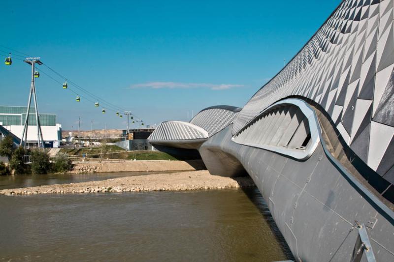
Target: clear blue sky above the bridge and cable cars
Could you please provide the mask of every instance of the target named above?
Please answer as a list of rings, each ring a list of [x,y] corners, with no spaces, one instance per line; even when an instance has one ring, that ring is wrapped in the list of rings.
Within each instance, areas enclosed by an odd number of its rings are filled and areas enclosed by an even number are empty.
[[[212,105],[242,107],[339,3],[3,0],[0,56],[4,59],[9,52],[5,47],[39,56],[146,124],[186,120],[187,112],[196,114]],[[12,66],[1,63],[0,105],[26,105],[29,65],[16,59]],[[95,129],[105,123],[107,128],[126,128],[125,118],[109,109],[103,115],[101,106],[87,101],[97,99],[84,99],[79,92],[77,103],[73,92],[43,74],[36,89],[39,111],[57,114],[64,130],[76,128],[78,115],[83,129],[90,129],[90,120]]]

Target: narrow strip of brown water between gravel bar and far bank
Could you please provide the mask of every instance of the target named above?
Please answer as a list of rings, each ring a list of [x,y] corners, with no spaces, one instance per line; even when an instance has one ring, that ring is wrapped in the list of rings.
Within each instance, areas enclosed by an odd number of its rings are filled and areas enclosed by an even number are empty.
[[[4,175],[0,176],[0,190],[7,188],[33,187],[42,185],[79,183],[105,180],[131,175],[165,174],[173,172],[122,172],[95,174],[48,174],[48,175]]]

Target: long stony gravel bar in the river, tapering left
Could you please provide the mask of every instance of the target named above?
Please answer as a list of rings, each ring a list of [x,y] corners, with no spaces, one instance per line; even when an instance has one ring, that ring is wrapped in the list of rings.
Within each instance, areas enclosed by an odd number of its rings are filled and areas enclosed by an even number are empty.
[[[102,181],[56,184],[37,187],[3,189],[1,195],[140,192],[140,191],[185,191],[226,189],[255,186],[247,177],[223,177],[210,175],[208,171],[191,171],[172,174],[154,174],[119,177]]]

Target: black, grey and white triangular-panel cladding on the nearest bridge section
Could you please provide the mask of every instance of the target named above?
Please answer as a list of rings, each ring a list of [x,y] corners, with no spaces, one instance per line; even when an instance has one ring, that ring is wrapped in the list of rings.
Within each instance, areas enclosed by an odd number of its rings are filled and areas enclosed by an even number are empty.
[[[319,104],[374,171],[394,166],[393,0],[344,0],[298,54],[238,113],[232,133],[289,96]]]

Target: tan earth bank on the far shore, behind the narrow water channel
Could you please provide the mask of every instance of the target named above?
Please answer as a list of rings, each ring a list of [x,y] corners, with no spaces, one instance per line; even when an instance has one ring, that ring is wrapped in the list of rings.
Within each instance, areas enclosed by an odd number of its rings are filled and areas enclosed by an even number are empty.
[[[167,161],[117,161],[117,162],[78,162],[70,173],[108,173],[108,172],[160,172],[160,171],[190,171],[205,169],[201,160]]]

